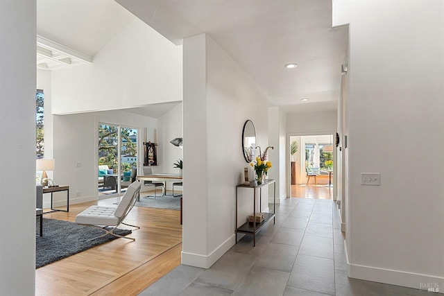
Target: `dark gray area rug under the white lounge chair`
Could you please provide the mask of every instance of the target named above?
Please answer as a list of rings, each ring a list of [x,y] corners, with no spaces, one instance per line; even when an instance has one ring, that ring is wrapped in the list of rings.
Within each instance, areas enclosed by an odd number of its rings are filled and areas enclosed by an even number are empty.
[[[39,218],[36,220],[38,234],[40,221]],[[116,229],[114,232],[126,236],[131,233],[131,230]],[[35,268],[40,268],[46,264],[53,263],[117,238],[116,236],[108,234],[93,241],[88,241],[104,233],[103,230],[95,227],[43,218],[43,236],[35,236]]]

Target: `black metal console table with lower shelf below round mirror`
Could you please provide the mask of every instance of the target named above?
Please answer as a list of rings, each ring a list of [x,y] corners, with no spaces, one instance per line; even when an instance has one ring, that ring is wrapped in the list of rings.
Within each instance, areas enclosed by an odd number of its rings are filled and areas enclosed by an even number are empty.
[[[257,189],[259,189],[259,212],[262,211],[262,187],[266,185],[274,185],[273,189],[273,213],[264,213],[264,220],[262,222],[256,222],[256,197]],[[245,224],[237,227],[237,191],[239,188],[253,189],[253,222],[246,222]],[[268,195],[267,195],[268,198]],[[256,246],[256,233],[268,223],[271,218],[273,218],[273,223],[275,223],[276,214],[276,182],[275,180],[268,179],[262,184],[257,184],[255,182],[250,182],[249,184],[239,184],[236,186],[236,243],[237,243],[237,233],[253,234],[253,247]]]

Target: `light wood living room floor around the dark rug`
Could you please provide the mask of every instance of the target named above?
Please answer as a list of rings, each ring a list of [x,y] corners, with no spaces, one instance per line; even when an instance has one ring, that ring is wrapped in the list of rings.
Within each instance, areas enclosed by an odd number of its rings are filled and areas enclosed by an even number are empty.
[[[118,198],[73,204],[69,213],[44,218],[74,221],[92,204],[112,204]],[[126,223],[138,225],[130,236],[118,238],[35,270],[36,295],[137,295],[180,265],[180,211],[134,207]],[[119,228],[126,228],[121,225]]]

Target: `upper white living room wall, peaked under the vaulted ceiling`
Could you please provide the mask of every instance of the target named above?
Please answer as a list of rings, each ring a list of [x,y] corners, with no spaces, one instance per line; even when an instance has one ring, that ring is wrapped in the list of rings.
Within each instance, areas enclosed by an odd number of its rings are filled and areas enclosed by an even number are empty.
[[[135,19],[91,65],[53,71],[52,100],[53,114],[181,101],[182,46]]]

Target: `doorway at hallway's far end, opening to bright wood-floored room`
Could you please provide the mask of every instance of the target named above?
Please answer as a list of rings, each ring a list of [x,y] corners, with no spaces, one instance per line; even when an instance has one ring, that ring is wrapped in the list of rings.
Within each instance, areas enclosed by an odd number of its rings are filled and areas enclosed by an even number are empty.
[[[290,136],[291,198],[333,199],[333,134]]]

